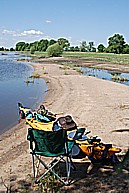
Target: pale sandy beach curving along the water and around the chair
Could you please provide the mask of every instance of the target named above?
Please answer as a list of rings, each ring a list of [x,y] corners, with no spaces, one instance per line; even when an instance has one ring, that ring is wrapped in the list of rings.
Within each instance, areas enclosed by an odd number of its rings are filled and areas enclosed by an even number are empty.
[[[89,136],[99,136],[103,142],[120,147],[121,154],[127,151],[129,148],[128,86],[95,77],[86,77],[71,68],[64,69],[63,65],[51,61],[47,64],[34,63],[33,67],[34,74],[40,74],[48,85],[47,95],[43,101],[46,108],[54,113],[63,112],[64,115],[71,115],[78,127],[85,127],[91,131]],[[6,191],[3,181],[7,186],[11,183],[12,189],[15,189],[24,184],[26,179],[30,180],[32,169],[29,144],[26,140],[27,128],[28,125],[23,120],[0,136],[1,192]],[[81,170],[80,176],[78,168]],[[104,178],[100,182],[97,179],[97,173],[87,176],[84,169],[86,164],[78,168],[73,174],[75,179],[78,179],[77,182],[69,187],[62,187],[61,192],[66,190],[66,192],[90,192],[88,183],[93,179],[94,187],[100,188],[99,183],[101,183],[101,189],[96,189],[94,192],[110,192],[111,188],[114,192],[129,191],[129,170],[125,170],[118,177],[112,171],[110,179],[109,175],[103,172]],[[102,171],[98,172],[98,176],[100,179]],[[117,189],[117,180],[123,189]]]

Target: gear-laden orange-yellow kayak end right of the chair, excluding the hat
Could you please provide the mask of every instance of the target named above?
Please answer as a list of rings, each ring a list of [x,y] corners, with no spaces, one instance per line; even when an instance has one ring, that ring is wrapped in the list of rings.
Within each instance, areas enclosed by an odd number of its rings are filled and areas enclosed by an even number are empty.
[[[92,164],[115,164],[118,162],[116,153],[121,152],[118,147],[112,147],[112,144],[104,144],[97,137],[88,138],[85,128],[68,133],[69,139],[74,139],[85,156],[91,160]]]

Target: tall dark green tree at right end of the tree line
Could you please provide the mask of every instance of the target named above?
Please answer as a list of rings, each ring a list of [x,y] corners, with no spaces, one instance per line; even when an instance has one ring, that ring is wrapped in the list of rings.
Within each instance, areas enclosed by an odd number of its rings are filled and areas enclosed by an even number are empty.
[[[120,34],[114,34],[108,39],[108,47],[106,52],[122,54],[125,47],[124,37]]]

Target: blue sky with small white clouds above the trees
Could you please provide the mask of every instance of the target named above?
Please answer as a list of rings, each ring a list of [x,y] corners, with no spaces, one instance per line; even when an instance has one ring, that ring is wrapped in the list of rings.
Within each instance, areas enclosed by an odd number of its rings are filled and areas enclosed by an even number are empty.
[[[129,43],[129,0],[0,0],[0,47],[61,37],[107,46],[115,33]]]

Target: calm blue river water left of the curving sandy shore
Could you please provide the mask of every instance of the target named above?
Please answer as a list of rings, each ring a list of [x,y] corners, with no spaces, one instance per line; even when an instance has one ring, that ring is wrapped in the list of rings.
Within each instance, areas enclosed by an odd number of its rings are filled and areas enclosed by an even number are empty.
[[[25,56],[15,53],[0,53],[0,134],[18,123],[17,103],[36,108],[43,101],[47,85],[43,79],[26,84],[33,68],[17,62]]]

